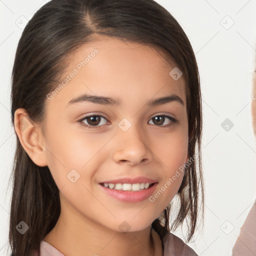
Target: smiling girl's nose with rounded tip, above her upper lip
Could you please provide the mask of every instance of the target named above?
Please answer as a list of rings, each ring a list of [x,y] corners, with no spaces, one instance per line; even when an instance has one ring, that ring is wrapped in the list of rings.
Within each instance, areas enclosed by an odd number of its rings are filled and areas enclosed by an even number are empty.
[[[152,160],[152,150],[146,134],[132,125],[127,131],[118,130],[113,141],[113,160],[116,163],[136,165],[140,162],[148,163]]]

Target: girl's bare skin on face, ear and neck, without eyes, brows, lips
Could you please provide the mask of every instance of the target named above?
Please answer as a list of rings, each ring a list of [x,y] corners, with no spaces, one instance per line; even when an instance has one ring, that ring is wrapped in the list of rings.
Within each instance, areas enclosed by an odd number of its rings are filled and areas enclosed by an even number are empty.
[[[44,237],[65,256],[71,255],[162,255],[161,240],[151,223],[176,194],[183,174],[154,202],[123,202],[102,192],[99,182],[121,177],[146,176],[156,180],[153,193],[188,160],[188,123],[183,76],[174,80],[175,65],[146,45],[99,36],[83,45],[68,59],[63,77],[97,48],[99,52],[82,67],[52,99],[46,99],[43,133],[29,122],[24,109],[15,111],[19,140],[33,162],[47,165],[60,192],[61,213],[54,228]],[[82,93],[119,98],[119,106],[92,102],[67,103]],[[146,106],[147,100],[178,95],[178,101]],[[79,119],[100,114],[96,128],[82,126]],[[177,119],[154,121],[166,114]],[[131,127],[118,123],[126,118]],[[89,119],[84,123],[91,124]],[[92,125],[92,124],[91,124]],[[75,169],[80,178],[72,183],[67,174]],[[130,226],[123,233],[119,225]]]

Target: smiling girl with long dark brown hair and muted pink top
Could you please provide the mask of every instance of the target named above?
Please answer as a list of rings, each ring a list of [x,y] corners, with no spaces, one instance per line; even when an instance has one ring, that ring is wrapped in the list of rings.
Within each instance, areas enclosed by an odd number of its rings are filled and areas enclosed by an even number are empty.
[[[199,75],[166,9],[47,2],[18,42],[11,100],[12,256],[197,255],[171,231],[186,220],[189,241],[203,216]]]

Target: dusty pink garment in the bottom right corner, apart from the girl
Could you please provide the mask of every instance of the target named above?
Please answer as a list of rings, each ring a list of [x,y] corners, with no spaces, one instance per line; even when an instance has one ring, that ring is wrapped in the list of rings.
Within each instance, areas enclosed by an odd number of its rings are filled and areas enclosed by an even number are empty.
[[[240,230],[232,256],[255,256],[256,255],[256,202],[250,209],[245,222]]]

